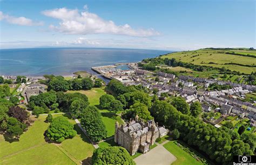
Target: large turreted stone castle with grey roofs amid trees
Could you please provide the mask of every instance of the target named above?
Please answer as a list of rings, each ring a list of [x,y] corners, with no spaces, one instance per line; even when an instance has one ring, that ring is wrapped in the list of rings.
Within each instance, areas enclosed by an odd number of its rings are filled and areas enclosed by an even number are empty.
[[[143,154],[150,150],[157,138],[161,138],[168,133],[165,127],[158,127],[158,123],[153,120],[143,122],[139,116],[135,120],[120,125],[116,122],[114,142],[128,150],[131,155],[138,151]]]

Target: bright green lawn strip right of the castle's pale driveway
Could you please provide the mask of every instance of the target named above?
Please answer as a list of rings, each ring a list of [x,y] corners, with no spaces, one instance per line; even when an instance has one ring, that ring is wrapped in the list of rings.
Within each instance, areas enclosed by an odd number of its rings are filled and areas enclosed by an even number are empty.
[[[172,164],[203,164],[194,157],[192,157],[190,154],[185,152],[183,149],[181,149],[179,146],[177,146],[174,141],[169,141],[164,145],[164,148],[169,150],[171,154],[177,157],[177,160],[173,162]]]

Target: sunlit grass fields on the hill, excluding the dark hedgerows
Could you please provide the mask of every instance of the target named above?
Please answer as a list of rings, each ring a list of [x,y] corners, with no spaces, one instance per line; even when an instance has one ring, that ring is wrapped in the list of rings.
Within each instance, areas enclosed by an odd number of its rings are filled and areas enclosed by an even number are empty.
[[[232,50],[228,50],[229,52]],[[238,63],[244,65],[253,65],[256,63],[256,59],[252,57],[244,57],[244,56],[235,56],[232,54],[226,54],[228,52],[225,50],[196,50],[196,51],[183,51],[183,52],[175,52],[170,53],[165,56],[161,56],[161,58],[175,58],[176,60],[181,60],[185,63],[192,63],[196,65],[205,65],[205,66],[214,66],[214,67],[225,67],[230,69],[231,71],[240,71],[243,73],[250,74],[252,71],[256,71],[256,67],[247,67],[240,65],[223,65],[225,63]],[[237,50],[235,50],[236,52]],[[220,53],[221,52],[221,53]],[[253,54],[255,51],[246,51],[246,54]],[[240,53],[240,52],[239,52]],[[196,56],[196,57],[193,57]],[[210,62],[216,64],[208,64]]]

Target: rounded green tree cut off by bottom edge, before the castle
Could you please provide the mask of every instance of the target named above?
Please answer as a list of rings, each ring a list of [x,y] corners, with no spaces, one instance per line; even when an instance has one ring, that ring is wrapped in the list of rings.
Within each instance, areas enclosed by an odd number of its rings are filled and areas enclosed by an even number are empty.
[[[104,147],[94,150],[92,164],[136,164],[123,147]]]

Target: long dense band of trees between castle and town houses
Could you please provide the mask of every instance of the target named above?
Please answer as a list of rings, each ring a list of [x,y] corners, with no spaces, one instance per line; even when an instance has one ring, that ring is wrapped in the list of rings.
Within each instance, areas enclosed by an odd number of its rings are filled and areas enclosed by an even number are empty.
[[[215,128],[198,118],[183,114],[188,112],[188,106],[177,106],[176,103],[177,101],[171,102],[171,105],[166,101],[156,101],[150,111],[161,125],[171,130],[177,129],[176,138],[183,139],[188,145],[195,146],[206,153],[210,159],[222,164],[230,163],[233,155],[253,154],[253,138],[243,134],[240,136],[226,127]],[[192,107],[190,109],[197,106]]]

